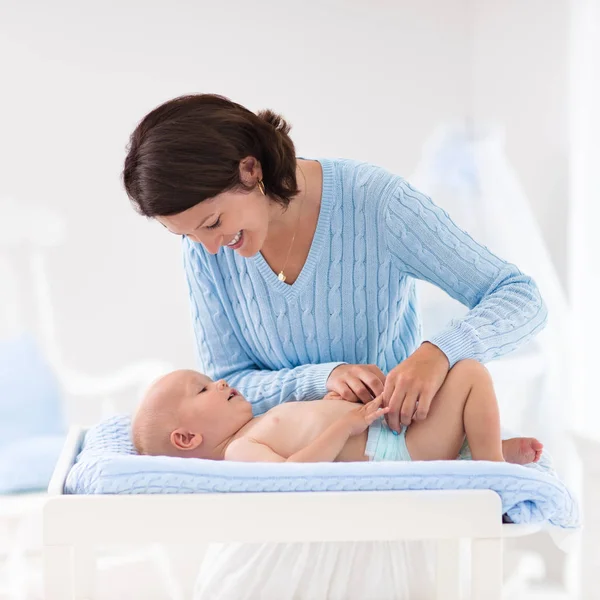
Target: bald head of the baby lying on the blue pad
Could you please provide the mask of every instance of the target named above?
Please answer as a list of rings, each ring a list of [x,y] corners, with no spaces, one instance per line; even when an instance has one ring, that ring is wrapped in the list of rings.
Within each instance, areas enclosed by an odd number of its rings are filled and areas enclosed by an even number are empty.
[[[225,381],[174,371],[144,395],[133,419],[133,443],[140,454],[218,459],[251,419],[250,403]]]

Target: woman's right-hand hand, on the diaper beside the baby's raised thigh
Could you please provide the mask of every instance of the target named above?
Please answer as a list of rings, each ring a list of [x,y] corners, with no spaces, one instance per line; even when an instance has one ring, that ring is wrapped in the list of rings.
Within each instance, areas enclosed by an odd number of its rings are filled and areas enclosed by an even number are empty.
[[[449,367],[446,355],[437,346],[424,342],[388,373],[383,405],[390,409],[386,417],[390,429],[400,432],[401,424],[410,425],[413,418],[422,421],[427,417]]]

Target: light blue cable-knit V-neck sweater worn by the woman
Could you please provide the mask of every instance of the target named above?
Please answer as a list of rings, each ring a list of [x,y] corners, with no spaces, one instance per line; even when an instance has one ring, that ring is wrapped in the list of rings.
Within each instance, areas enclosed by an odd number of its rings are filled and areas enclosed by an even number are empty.
[[[225,378],[255,414],[327,393],[346,362],[387,373],[421,344],[414,279],[469,307],[428,341],[450,366],[487,362],[540,331],[532,279],[460,230],[404,179],[351,160],[320,160],[317,229],[298,279],[277,278],[259,253],[209,254],[185,239],[184,265],[200,369]]]

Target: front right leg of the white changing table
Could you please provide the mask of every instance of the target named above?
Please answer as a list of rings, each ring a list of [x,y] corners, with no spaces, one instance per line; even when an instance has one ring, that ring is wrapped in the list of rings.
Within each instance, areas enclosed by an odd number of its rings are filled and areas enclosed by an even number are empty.
[[[471,549],[472,599],[500,600],[502,575],[502,538],[473,539]]]

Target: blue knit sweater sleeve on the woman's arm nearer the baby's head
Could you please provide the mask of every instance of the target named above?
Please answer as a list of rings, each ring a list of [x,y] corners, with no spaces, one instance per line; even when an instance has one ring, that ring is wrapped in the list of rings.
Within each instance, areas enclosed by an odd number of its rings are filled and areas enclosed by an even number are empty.
[[[326,383],[342,362],[269,370],[252,356],[239,325],[228,316],[209,269],[192,242],[184,240],[184,269],[190,296],[199,368],[213,380],[226,379],[262,414],[293,400],[317,400],[327,394]],[[230,308],[230,307],[229,307]]]

